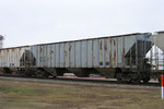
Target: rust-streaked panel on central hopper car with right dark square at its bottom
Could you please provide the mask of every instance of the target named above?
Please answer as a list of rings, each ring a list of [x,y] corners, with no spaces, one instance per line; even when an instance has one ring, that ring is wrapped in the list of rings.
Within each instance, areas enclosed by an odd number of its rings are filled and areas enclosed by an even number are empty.
[[[105,39],[105,65],[106,68],[109,68],[109,51],[110,51],[110,44],[109,44],[109,38]]]

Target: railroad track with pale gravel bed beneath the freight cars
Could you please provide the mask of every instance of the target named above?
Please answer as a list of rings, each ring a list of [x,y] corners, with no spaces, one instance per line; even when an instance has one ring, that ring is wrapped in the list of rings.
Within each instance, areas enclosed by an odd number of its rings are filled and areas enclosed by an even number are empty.
[[[69,78],[69,77],[57,77],[57,78],[35,78],[35,77],[21,77],[17,75],[0,75],[0,80],[8,81],[23,81],[23,82],[37,82],[37,83],[48,83],[48,84],[67,84],[67,85],[82,85],[82,86],[97,86],[97,87],[114,87],[114,88],[160,88],[160,83],[118,83],[116,81],[107,80],[90,80],[90,78]]]

